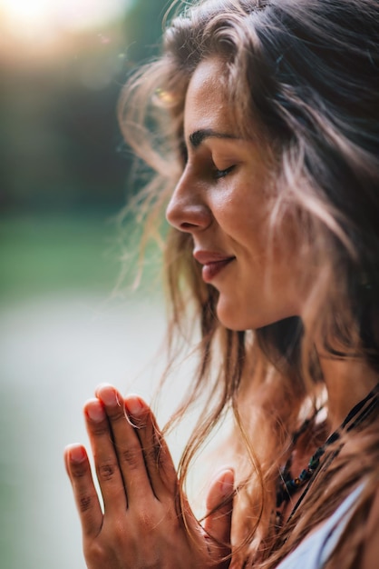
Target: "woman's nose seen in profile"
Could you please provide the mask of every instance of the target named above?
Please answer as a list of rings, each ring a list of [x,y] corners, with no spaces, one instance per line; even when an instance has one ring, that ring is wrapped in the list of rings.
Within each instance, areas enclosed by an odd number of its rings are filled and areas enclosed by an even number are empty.
[[[206,229],[212,222],[209,206],[202,197],[201,189],[184,173],[166,209],[170,225],[187,233]]]

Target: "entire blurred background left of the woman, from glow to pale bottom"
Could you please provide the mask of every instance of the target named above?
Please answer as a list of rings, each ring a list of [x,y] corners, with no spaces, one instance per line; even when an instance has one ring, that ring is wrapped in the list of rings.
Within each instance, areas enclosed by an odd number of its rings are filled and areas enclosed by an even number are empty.
[[[0,0],[2,569],[85,567],[63,446],[85,442],[97,384],[149,399],[159,375],[142,369],[164,331],[158,250],[145,294],[132,268],[118,285],[136,227],[116,223],[135,191],[116,105],[168,5]]]

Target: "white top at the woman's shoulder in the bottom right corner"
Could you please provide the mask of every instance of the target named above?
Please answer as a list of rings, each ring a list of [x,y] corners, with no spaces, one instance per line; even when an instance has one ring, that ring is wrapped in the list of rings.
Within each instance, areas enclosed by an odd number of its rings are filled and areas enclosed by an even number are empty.
[[[355,491],[345,498],[325,524],[314,534],[306,537],[293,552],[277,565],[277,569],[322,569],[353,514],[355,501],[361,494],[363,487],[364,484],[361,484],[355,488]]]

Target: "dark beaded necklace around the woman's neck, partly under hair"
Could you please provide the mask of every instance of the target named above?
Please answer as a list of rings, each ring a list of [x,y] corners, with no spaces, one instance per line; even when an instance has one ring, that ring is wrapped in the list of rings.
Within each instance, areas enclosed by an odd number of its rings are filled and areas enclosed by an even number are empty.
[[[278,508],[280,508],[280,506],[283,503],[287,503],[290,497],[296,493],[296,490],[298,490],[298,488],[308,483],[305,491],[297,501],[295,508],[292,510],[290,517],[292,517],[293,514],[295,514],[297,507],[299,506],[299,504],[305,497],[307,490],[309,489],[309,484],[311,482],[311,479],[313,480],[316,477],[317,472],[319,471],[321,458],[326,453],[327,447],[330,444],[335,443],[335,441],[337,441],[341,437],[341,434],[343,432],[348,433],[352,429],[355,429],[356,426],[361,424],[365,418],[367,418],[370,414],[374,412],[374,410],[378,407],[378,405],[379,405],[379,384],[376,384],[374,389],[370,391],[370,393],[366,395],[364,399],[362,399],[362,401],[355,404],[353,409],[351,409],[351,411],[346,415],[345,420],[338,427],[338,429],[336,429],[336,431],[326,439],[326,442],[322,446],[319,446],[317,448],[316,453],[312,454],[306,468],[302,470],[301,473],[298,476],[296,476],[296,478],[292,478],[290,474],[291,457],[287,460],[287,464],[281,471],[277,484],[277,526],[280,525],[282,522],[281,519],[282,514],[281,512],[278,511]],[[294,435],[293,444],[296,444],[298,436],[305,432],[306,427],[311,422],[312,419],[306,421],[303,427]],[[339,451],[340,448],[335,450],[335,452],[332,454],[331,460],[335,458],[335,456],[338,454]]]

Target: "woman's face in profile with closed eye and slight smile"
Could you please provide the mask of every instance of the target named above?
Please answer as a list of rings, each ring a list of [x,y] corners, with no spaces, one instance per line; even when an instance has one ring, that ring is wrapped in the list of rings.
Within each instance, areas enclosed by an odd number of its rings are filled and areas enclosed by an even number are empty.
[[[275,188],[258,129],[238,135],[221,80],[225,64],[212,58],[190,80],[184,110],[188,160],[167,218],[193,238],[203,280],[219,291],[219,321],[245,330],[301,313],[303,266],[295,232],[270,233]],[[304,269],[303,269],[304,270]]]

